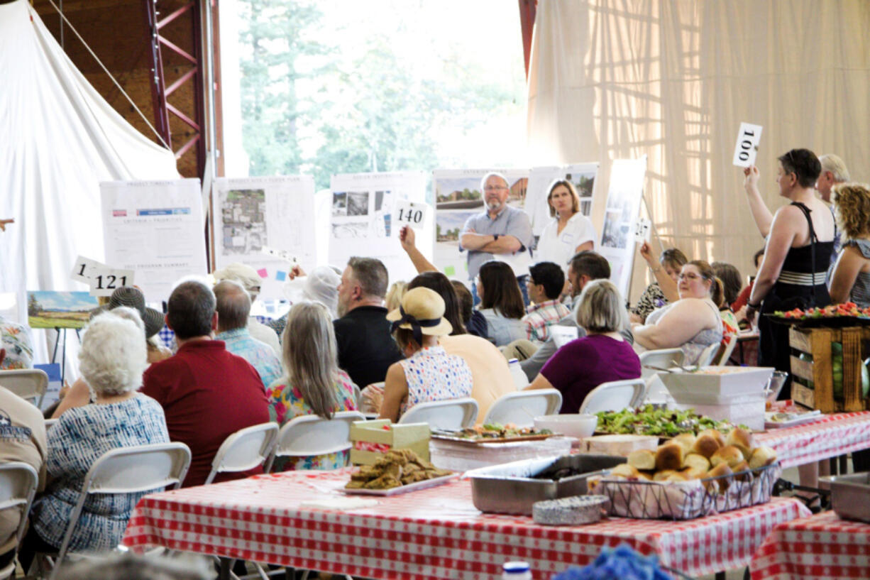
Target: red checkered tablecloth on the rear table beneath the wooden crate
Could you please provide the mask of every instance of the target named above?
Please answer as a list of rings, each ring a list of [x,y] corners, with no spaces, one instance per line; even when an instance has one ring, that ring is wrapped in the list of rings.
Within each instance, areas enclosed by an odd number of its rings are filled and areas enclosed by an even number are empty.
[[[755,435],[776,449],[782,467],[793,467],[870,448],[870,411],[824,415],[819,421]]]

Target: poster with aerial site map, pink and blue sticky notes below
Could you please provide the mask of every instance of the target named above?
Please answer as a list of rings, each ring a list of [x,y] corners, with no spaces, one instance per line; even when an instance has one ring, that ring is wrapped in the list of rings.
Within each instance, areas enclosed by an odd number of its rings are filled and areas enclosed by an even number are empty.
[[[251,266],[263,279],[260,297],[272,300],[284,297],[292,260],[306,271],[317,265],[311,176],[216,179],[211,195],[216,269]]]

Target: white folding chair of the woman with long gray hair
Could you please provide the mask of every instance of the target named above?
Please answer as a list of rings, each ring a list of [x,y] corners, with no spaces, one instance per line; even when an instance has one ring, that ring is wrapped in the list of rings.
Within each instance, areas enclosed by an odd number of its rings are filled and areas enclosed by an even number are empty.
[[[350,449],[351,424],[355,421],[365,421],[365,415],[359,411],[340,411],[331,419],[302,415],[284,423],[266,462],[266,473],[271,473],[278,457],[309,457]]]

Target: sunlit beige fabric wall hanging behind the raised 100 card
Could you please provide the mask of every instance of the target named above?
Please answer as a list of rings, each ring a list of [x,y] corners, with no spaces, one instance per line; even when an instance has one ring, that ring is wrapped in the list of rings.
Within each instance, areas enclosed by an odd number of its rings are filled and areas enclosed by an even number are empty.
[[[741,121],[783,205],[776,158],[837,153],[870,179],[870,3],[864,0],[540,0],[529,72],[533,163],[646,154],[646,201],[665,246],[753,273],[764,240],[732,165]],[[602,183],[601,185],[606,185]],[[600,225],[602,204],[593,208]],[[649,276],[635,260],[632,299]]]

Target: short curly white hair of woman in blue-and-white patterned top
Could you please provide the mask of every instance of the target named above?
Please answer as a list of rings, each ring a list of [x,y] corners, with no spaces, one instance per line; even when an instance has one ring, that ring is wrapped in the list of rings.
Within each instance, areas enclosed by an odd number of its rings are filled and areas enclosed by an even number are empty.
[[[99,314],[84,330],[78,360],[84,381],[97,394],[136,390],[148,367],[144,331],[114,312]]]

